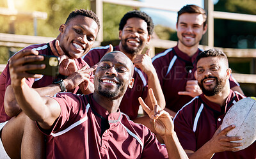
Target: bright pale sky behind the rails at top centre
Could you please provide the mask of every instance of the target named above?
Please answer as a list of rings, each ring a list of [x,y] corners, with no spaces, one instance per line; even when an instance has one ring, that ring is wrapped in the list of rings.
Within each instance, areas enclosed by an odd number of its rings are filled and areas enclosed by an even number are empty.
[[[186,4],[196,4],[204,8],[204,0],[140,0],[146,3],[151,4],[161,4],[164,6],[170,6],[170,8],[174,10],[180,10],[182,6]],[[218,0],[212,0],[213,3],[217,3]],[[172,27],[175,29],[176,21],[177,21],[177,12],[173,11],[161,11],[154,10],[151,8],[140,8],[141,11],[145,11],[150,17],[152,17],[154,25],[161,24],[162,26]]]

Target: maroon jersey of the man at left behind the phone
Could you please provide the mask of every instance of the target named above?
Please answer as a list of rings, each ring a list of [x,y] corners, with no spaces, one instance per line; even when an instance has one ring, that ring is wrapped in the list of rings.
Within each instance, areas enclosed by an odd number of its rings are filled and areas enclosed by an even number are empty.
[[[55,40],[53,41],[53,43],[55,45]],[[29,45],[28,47],[22,50],[25,50],[25,49],[37,50],[41,55],[53,55],[51,48],[49,47],[49,43]],[[84,60],[81,57],[79,59],[75,59],[75,61],[78,69],[82,68],[85,65],[88,65],[84,62]],[[57,77],[44,75],[40,79],[29,78],[26,82],[29,87],[38,88],[38,87],[45,87],[52,84],[52,81],[54,79],[57,79]],[[93,82],[93,75],[91,75],[90,80]],[[9,86],[10,84],[11,84],[10,72],[9,72],[8,64],[6,64],[6,68],[4,68],[4,71],[0,75],[0,103],[1,103],[0,104],[0,123],[7,121],[11,118],[7,116],[4,110],[4,94],[5,94],[6,87]],[[78,89],[79,87],[76,87],[76,89],[68,90],[68,92],[76,93]]]

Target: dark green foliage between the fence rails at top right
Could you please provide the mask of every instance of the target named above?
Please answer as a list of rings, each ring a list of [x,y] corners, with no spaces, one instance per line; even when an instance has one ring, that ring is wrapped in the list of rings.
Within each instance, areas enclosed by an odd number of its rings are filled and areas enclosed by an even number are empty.
[[[255,0],[220,0],[214,5],[216,11],[256,15]],[[256,22],[238,20],[214,20],[214,46],[255,49]]]

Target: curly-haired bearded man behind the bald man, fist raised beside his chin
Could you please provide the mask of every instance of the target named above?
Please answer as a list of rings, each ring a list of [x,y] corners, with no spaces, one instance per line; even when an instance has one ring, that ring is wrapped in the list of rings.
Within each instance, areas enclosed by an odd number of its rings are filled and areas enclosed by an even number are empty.
[[[119,39],[120,43],[116,47],[112,45],[106,47],[93,48],[84,56],[84,61],[90,66],[99,63],[100,59],[109,50],[120,50],[128,56],[134,63],[134,87],[128,88],[120,104],[121,112],[127,114],[134,120],[138,116],[140,103],[138,98],[141,96],[147,105],[152,108],[148,89],[152,88],[156,95],[157,102],[164,108],[164,95],[157,78],[156,70],[152,64],[148,51],[141,54],[145,45],[150,42],[154,24],[151,17],[138,10],[127,12],[120,20]],[[141,123],[141,122],[140,122]]]

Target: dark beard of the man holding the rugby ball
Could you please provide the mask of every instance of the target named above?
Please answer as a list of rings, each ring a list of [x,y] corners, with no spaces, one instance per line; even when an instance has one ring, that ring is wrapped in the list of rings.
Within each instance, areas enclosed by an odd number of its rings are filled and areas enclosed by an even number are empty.
[[[207,90],[205,89],[202,83],[205,79],[209,79],[209,78],[216,79],[216,86],[214,86],[210,90]],[[225,79],[218,79],[217,77],[213,77],[213,76],[205,77],[204,79],[201,80],[200,83],[198,82],[198,85],[202,89],[202,92],[204,93],[205,96],[218,95],[224,89],[225,84],[226,84]]]

